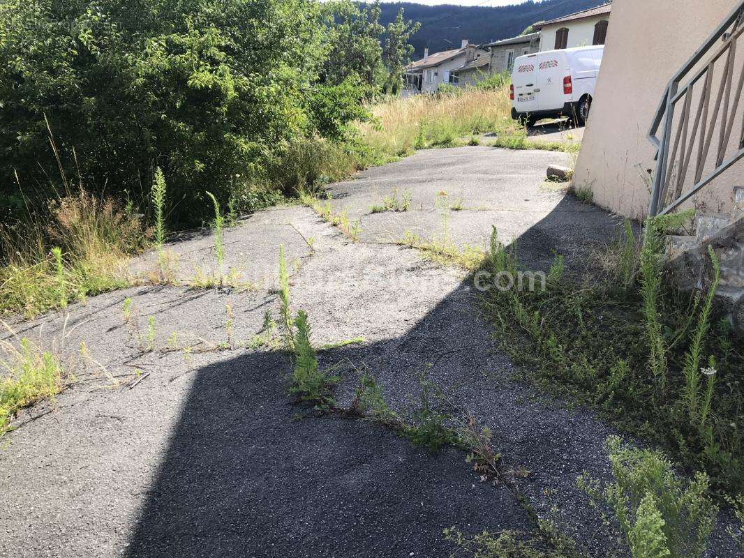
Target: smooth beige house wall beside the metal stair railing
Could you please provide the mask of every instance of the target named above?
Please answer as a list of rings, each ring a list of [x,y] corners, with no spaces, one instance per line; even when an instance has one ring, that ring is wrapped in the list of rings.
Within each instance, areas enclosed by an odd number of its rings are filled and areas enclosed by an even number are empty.
[[[591,186],[597,204],[633,218],[647,213],[649,192],[641,176],[653,167],[655,155],[647,132],[664,89],[738,4],[740,0],[615,0],[574,174],[577,185]],[[739,112],[744,112],[741,106]],[[741,120],[737,129],[742,129]],[[728,211],[732,187],[744,185],[742,175],[744,161],[703,190],[695,204],[706,212]]]

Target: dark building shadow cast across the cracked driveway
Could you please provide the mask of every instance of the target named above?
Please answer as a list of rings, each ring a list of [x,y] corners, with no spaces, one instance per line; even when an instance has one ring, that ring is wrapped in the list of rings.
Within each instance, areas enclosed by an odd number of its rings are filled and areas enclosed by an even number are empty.
[[[577,204],[567,196],[520,237],[523,261],[544,268],[557,251],[582,266],[588,239],[612,238],[615,222],[607,214]],[[574,426],[556,419],[562,411],[530,416],[537,407],[520,403],[513,385],[497,397],[510,365],[493,353],[487,327],[465,300],[472,298],[468,289],[464,282],[444,296],[405,336],[327,351],[321,365],[369,363],[391,405],[411,408],[415,403],[406,398],[416,397],[415,372],[444,355],[440,372],[433,372],[437,381],[462,388],[466,403],[482,405],[481,414],[502,423],[504,443],[551,444],[550,456],[534,458],[548,469],[559,466],[556,474],[568,479],[587,465],[576,450],[568,470],[562,468],[562,450],[577,443]],[[506,371],[494,384],[484,377],[498,363]],[[283,353],[246,353],[197,372],[126,556],[432,557],[454,550],[443,539],[445,527],[468,533],[532,528],[515,498],[480,484],[455,449],[433,455],[381,426],[339,415],[298,420],[303,409],[287,394],[289,371]],[[347,394],[355,382],[345,379]],[[512,416],[522,412],[527,417]],[[597,447],[602,436],[594,436]],[[542,490],[537,485],[546,478],[530,482]]]

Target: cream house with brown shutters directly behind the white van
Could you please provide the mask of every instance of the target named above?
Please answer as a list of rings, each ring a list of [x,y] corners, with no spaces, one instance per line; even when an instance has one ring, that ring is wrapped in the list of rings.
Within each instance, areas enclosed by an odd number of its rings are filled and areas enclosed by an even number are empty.
[[[590,10],[534,24],[533,29],[541,33],[540,52],[604,45],[611,11],[612,2],[609,2]]]

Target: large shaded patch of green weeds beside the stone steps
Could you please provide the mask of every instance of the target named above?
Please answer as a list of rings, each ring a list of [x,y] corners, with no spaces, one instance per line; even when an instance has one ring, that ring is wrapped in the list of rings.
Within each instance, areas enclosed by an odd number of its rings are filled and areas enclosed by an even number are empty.
[[[498,343],[531,382],[591,405],[736,494],[744,488],[744,355],[734,347],[743,340],[713,303],[712,251],[705,292],[681,292],[664,275],[662,233],[684,219],[647,223],[640,243],[626,223],[603,269],[581,283],[557,257],[544,290],[491,289],[484,307]],[[497,238],[484,266],[522,269],[516,249]]]

